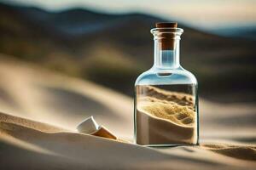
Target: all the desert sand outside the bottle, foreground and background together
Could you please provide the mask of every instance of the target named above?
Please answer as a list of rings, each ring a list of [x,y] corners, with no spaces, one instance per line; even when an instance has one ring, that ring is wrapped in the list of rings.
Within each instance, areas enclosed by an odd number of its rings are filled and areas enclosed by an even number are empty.
[[[199,146],[148,148],[78,133],[93,115],[132,140],[132,99],[0,57],[0,169],[255,169],[253,104],[200,100]]]

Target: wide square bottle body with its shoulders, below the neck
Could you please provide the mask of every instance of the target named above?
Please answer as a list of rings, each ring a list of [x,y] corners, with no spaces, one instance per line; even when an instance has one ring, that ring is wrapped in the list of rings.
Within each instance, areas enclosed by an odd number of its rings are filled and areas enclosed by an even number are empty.
[[[189,71],[144,72],[135,83],[134,108],[137,144],[198,144],[197,82]]]

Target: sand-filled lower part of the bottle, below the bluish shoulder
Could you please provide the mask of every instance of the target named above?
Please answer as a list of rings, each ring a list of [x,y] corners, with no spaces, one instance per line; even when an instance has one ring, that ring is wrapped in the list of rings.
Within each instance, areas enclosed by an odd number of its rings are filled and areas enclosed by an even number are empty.
[[[137,144],[197,143],[194,85],[158,85],[137,88]]]

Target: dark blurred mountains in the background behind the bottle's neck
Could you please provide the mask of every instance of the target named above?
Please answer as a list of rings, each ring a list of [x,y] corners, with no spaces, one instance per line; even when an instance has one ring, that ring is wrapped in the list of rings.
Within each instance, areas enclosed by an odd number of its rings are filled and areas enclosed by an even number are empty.
[[[0,3],[0,53],[132,95],[136,77],[153,64],[149,30],[159,21],[166,20]],[[181,63],[198,77],[201,96],[227,102],[256,100],[255,41],[179,27],[184,29]]]

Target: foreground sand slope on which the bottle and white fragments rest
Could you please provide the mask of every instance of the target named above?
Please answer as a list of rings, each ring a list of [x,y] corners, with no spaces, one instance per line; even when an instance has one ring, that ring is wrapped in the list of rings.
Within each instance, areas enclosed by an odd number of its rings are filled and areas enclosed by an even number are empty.
[[[0,134],[0,167],[3,169],[28,165],[30,169],[199,169],[202,166],[203,169],[239,169],[256,165],[249,161],[252,157],[228,157],[230,155],[225,154],[225,150],[230,145],[149,149],[83,133],[62,131],[59,127],[3,113],[0,114]],[[252,155],[253,146],[241,147],[246,150],[234,149],[238,152],[236,155],[249,154],[255,158],[255,153]],[[218,150],[221,154],[209,150]]]

